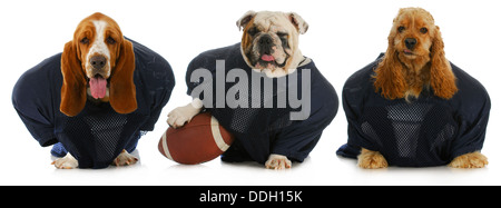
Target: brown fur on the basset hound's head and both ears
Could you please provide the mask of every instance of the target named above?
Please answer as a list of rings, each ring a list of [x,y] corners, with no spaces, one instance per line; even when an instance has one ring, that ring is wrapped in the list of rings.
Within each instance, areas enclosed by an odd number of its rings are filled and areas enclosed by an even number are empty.
[[[84,19],[77,27],[73,40],[65,44],[61,56],[61,72],[63,77],[61,87],[60,110],[62,113],[73,117],[85,107],[87,101],[87,76],[85,72],[86,56],[89,46],[92,43],[96,29],[92,20],[105,20],[108,23],[106,37],[112,37],[115,44],[107,43],[110,51],[110,95],[109,102],[115,111],[129,113],[137,109],[136,86],[134,85],[135,56],[132,43],[121,34],[118,24],[102,13],[94,13]],[[88,44],[82,44],[80,40],[86,37]],[[100,101],[108,101],[108,98]]]

